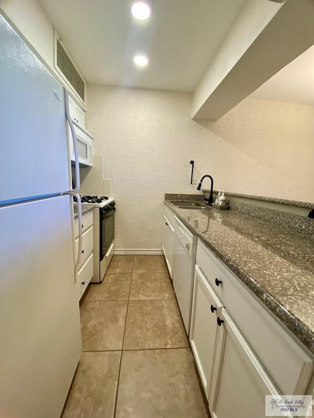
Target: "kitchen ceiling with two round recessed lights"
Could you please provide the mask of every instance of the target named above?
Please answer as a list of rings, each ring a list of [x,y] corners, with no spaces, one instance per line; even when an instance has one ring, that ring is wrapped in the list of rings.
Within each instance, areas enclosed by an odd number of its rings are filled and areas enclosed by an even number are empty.
[[[131,0],[38,2],[88,83],[193,92],[246,0],[147,0],[144,22]]]

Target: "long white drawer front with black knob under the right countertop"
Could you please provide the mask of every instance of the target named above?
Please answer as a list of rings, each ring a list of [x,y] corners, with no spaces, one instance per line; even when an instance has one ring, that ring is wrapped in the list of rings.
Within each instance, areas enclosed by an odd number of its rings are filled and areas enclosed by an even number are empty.
[[[305,393],[313,373],[311,355],[200,240],[196,263],[281,391]]]

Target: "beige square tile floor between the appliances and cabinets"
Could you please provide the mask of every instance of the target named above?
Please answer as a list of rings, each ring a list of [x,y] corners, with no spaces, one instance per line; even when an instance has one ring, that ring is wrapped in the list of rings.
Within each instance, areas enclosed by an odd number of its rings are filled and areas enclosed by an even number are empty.
[[[62,418],[207,418],[162,256],[114,256],[80,308],[83,353]]]

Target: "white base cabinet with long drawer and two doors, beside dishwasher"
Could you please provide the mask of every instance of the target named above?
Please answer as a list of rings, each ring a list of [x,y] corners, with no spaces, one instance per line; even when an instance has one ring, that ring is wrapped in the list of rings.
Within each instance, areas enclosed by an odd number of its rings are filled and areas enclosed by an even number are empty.
[[[264,418],[265,395],[313,392],[311,353],[200,240],[190,342],[213,418]]]

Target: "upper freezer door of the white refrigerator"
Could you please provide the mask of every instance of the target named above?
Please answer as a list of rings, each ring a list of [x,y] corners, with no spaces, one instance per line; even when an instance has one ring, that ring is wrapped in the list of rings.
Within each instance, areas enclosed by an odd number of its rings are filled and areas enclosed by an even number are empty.
[[[63,89],[1,16],[0,92],[0,204],[68,191]]]

